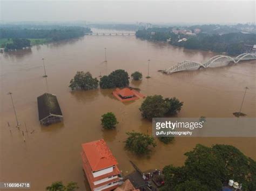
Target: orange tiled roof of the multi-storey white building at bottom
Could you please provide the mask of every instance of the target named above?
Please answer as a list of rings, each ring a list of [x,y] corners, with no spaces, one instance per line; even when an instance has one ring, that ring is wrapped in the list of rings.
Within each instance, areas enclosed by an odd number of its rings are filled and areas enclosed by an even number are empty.
[[[87,142],[82,147],[93,172],[117,165],[116,158],[103,139]]]

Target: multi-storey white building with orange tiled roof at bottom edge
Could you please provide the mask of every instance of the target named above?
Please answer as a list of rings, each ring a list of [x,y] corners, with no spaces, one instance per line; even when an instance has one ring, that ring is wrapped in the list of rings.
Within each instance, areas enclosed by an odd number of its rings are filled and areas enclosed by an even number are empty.
[[[103,139],[82,144],[83,169],[91,190],[112,190],[123,183],[117,160]]]

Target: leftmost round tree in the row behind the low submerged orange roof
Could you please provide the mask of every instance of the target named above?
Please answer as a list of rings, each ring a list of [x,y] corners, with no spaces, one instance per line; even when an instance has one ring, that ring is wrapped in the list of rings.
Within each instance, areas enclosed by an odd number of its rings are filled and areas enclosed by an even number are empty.
[[[70,81],[71,90],[92,90],[98,87],[98,79],[92,78],[90,72],[78,71]]]

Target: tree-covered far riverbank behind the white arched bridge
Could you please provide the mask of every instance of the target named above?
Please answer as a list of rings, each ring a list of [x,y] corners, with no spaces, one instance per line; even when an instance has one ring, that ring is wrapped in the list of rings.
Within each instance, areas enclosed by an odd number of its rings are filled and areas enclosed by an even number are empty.
[[[154,33],[152,33],[154,31]],[[256,44],[254,33],[226,33],[224,35],[199,33],[196,36],[174,34],[170,28],[138,30],[136,37],[154,41],[166,41],[171,39],[170,44],[182,46],[186,49],[198,49],[205,51],[221,52],[231,55],[244,53],[244,45]],[[178,42],[179,39],[187,38],[186,41]]]

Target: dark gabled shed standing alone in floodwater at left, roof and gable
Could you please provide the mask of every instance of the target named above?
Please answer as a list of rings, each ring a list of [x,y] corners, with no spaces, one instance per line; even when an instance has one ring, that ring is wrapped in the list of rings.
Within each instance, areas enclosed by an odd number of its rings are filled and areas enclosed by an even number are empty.
[[[63,120],[56,95],[44,93],[37,97],[38,117],[42,125],[50,125]]]

